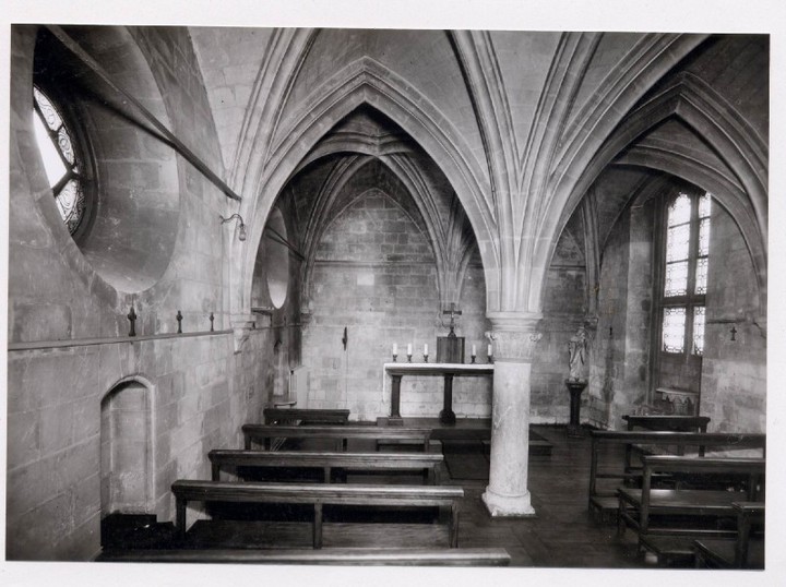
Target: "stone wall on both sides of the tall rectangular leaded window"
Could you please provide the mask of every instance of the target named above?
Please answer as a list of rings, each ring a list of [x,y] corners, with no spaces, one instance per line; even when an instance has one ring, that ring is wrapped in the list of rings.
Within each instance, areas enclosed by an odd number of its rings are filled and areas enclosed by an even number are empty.
[[[600,428],[619,429],[620,416],[655,403],[650,346],[657,344],[651,334],[656,207],[656,199],[631,207],[604,250],[587,417]],[[763,432],[766,337],[757,323],[755,275],[739,228],[717,203],[710,251],[700,414],[712,418],[711,431]]]

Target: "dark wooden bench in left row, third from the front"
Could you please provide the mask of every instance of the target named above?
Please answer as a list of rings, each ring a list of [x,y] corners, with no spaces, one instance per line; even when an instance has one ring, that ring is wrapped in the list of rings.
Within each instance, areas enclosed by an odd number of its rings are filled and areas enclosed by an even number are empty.
[[[230,451],[216,450],[207,454],[212,478],[221,480],[221,468],[231,467],[282,467],[288,469],[321,469],[323,481],[330,483],[334,469],[353,471],[419,471],[424,481],[437,484],[440,464],[444,460],[437,453],[309,453],[291,451]]]

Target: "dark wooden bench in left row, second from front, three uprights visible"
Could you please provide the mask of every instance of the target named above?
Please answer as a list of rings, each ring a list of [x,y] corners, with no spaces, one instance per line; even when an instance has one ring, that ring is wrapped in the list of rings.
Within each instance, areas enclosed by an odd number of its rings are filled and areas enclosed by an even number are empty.
[[[322,508],[324,505],[364,505],[450,508],[448,542],[458,546],[458,504],[464,490],[456,487],[424,486],[337,486],[297,483],[231,483],[226,481],[178,480],[175,494],[175,527],[186,536],[188,502],[275,503],[313,505],[313,548],[322,548]]]

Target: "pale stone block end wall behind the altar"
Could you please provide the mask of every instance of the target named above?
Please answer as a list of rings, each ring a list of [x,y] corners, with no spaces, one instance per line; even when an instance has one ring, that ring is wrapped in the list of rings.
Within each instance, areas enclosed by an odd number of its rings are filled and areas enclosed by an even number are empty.
[[[390,382],[383,378],[382,364],[392,360],[393,343],[398,345],[398,361],[406,360],[407,344],[413,345],[413,361],[422,360],[424,344],[429,346],[429,361],[434,361],[437,336],[446,334],[427,237],[395,202],[371,190],[325,231],[309,289],[302,359],[309,372],[308,406],[346,407],[350,418],[359,420],[389,415]],[[486,360],[485,306],[483,271],[471,265],[457,330],[466,337],[466,362],[473,343],[478,361]],[[457,378],[456,416],[488,417],[490,386],[485,379]],[[403,380],[403,416],[436,417],[441,408],[440,379]]]

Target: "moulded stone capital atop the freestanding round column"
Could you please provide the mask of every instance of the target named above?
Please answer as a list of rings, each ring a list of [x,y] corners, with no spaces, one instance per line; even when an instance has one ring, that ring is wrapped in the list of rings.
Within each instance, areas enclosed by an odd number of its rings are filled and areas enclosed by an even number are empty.
[[[537,326],[543,314],[534,312],[489,312],[492,331],[486,337],[493,345],[495,361],[532,362],[535,345],[543,338]]]

